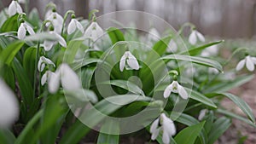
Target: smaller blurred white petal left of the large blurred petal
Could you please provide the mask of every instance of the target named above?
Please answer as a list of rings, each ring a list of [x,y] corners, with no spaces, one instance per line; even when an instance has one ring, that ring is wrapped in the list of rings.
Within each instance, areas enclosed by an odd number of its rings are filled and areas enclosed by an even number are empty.
[[[55,94],[60,88],[61,73],[59,71],[52,72],[49,77],[48,89],[49,93]]]

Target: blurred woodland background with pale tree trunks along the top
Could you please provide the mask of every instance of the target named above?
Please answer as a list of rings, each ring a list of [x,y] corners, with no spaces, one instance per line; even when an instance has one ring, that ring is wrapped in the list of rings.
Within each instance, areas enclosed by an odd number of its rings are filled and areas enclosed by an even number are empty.
[[[1,9],[11,0],[1,0]],[[225,38],[252,38],[256,34],[256,0],[30,0],[44,14],[45,5],[53,2],[57,11],[65,14],[73,9],[77,15],[88,17],[91,9],[97,16],[118,10],[138,10],[160,16],[174,28],[191,22],[204,34]]]

